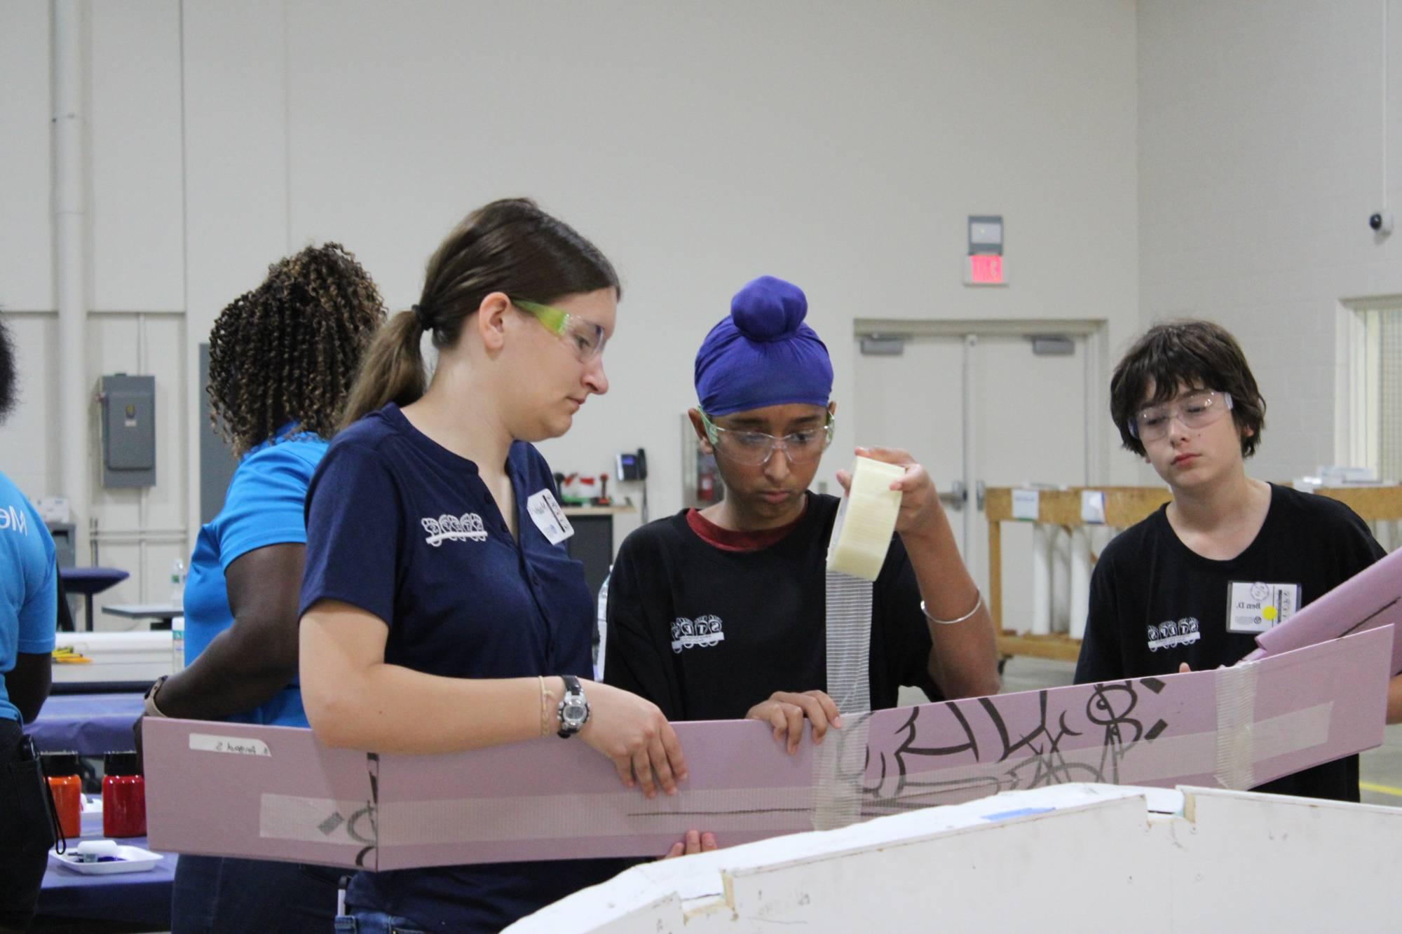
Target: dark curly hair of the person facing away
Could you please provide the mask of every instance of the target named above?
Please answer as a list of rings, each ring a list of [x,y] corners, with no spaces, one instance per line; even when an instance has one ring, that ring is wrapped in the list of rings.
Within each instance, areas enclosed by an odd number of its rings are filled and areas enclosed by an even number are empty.
[[[268,278],[220,311],[209,335],[215,429],[243,454],[292,421],[331,438],[384,302],[338,243],[268,266]]]

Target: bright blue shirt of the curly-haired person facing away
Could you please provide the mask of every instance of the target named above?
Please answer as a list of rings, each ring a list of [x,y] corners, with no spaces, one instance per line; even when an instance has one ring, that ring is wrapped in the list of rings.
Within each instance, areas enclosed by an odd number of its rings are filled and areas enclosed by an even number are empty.
[[[216,635],[234,624],[224,571],[236,560],[275,544],[303,544],[307,484],[327,442],[311,433],[292,433],[283,425],[275,438],[250,449],[234,468],[219,510],[195,539],[185,578],[185,661],[193,662]],[[296,677],[258,707],[229,717],[241,724],[306,726],[301,689]]]

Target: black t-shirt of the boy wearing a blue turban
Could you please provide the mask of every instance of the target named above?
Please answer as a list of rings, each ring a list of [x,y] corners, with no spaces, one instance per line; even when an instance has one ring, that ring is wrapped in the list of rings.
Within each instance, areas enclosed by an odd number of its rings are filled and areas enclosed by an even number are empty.
[[[827,541],[838,499],[808,495],[794,530],[767,548],[723,551],[686,510],[629,534],[608,578],[603,679],[667,719],[739,719],[774,691],[827,690]],[[872,589],[871,705],[901,684],[938,697],[930,628],[900,539]]]

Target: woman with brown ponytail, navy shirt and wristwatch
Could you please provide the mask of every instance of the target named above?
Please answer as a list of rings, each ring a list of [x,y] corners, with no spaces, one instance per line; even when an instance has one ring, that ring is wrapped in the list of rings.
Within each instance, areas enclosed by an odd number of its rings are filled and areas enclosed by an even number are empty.
[[[531,446],[608,390],[618,293],[604,255],[524,199],[474,212],[429,259],[307,492],[300,670],[318,740],[423,754],[550,738],[587,743],[649,797],[686,778],[655,704],[585,680],[593,599]],[[499,931],[617,868],[359,872],[336,930]]]

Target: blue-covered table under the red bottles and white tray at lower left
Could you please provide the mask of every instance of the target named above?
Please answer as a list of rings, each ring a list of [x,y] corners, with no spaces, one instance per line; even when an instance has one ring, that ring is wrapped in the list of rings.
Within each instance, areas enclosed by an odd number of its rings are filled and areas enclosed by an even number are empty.
[[[119,840],[146,848],[146,837]],[[69,841],[77,846],[77,840]],[[160,864],[147,872],[119,872],[115,875],[83,875],[49,860],[39,889],[41,917],[87,919],[94,921],[122,921],[154,930],[168,930],[171,924],[171,884],[175,879],[174,854],[161,854]]]

